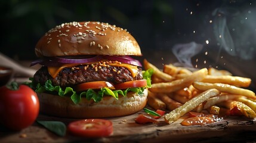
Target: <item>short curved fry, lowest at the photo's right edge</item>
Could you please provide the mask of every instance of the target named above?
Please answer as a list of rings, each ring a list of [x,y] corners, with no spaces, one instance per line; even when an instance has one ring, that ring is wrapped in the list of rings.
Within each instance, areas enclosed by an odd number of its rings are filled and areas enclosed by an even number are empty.
[[[256,117],[256,113],[252,110],[248,105],[243,104],[239,101],[226,101],[225,104],[227,108],[230,110],[234,107],[238,107],[238,110],[249,119],[254,119]]]

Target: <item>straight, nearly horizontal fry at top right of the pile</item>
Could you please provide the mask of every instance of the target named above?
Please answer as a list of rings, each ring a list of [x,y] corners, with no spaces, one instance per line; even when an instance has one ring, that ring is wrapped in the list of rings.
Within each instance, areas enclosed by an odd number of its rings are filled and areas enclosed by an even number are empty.
[[[240,76],[209,76],[207,75],[202,82],[208,83],[225,83],[238,87],[248,87],[251,84],[251,79]]]

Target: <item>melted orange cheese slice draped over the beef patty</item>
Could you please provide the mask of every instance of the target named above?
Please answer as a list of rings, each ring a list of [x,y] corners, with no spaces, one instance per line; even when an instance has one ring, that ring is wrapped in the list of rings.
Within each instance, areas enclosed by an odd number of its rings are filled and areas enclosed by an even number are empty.
[[[88,63],[87,63],[88,64]],[[63,64],[61,67],[48,67],[48,72],[50,73],[51,77],[55,78],[58,76],[58,73],[60,73],[61,70],[63,70],[65,67],[75,67],[81,64]],[[82,64],[84,65],[84,64]],[[115,66],[115,67],[125,67],[131,72],[131,76],[135,77],[138,74],[138,67],[137,66],[132,66],[131,64],[116,64],[116,63],[111,63],[109,66]]]

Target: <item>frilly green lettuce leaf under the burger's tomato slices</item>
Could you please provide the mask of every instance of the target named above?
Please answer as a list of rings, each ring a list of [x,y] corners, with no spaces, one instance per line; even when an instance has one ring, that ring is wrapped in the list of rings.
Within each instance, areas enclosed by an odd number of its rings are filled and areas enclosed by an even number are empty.
[[[60,86],[53,86],[51,80],[47,80],[44,85],[40,83],[35,83],[33,77],[30,77],[29,80],[32,82],[24,83],[30,88],[35,89],[36,92],[49,92],[50,94],[58,94],[61,97],[70,96],[71,100],[74,104],[78,104],[82,97],[85,97],[87,100],[94,100],[94,102],[100,102],[103,98],[103,95],[109,95],[118,100],[118,95],[127,96],[127,92],[132,91],[138,93],[138,95],[143,96],[143,91],[145,88],[151,88],[151,75],[153,74],[153,70],[143,71],[143,79],[147,80],[147,87],[144,88],[127,88],[124,90],[115,90],[112,91],[109,88],[101,88],[100,90],[88,89],[87,91],[77,93],[71,87],[61,88]]]

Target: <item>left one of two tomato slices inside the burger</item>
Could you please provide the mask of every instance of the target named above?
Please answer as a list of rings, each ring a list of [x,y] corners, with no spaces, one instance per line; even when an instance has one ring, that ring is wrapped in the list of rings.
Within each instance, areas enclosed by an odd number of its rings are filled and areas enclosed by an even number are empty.
[[[101,88],[115,89],[112,83],[106,82],[106,81],[85,82],[85,83],[76,85],[76,91],[85,91],[87,89],[101,89]]]

